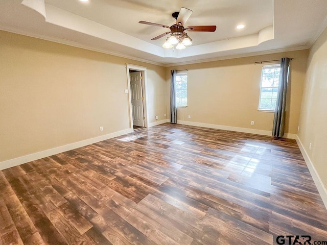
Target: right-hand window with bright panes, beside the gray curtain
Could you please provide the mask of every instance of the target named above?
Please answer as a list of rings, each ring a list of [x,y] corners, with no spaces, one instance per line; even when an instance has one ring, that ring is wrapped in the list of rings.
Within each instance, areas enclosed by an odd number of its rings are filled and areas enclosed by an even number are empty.
[[[261,73],[259,110],[275,110],[281,65],[264,65]]]

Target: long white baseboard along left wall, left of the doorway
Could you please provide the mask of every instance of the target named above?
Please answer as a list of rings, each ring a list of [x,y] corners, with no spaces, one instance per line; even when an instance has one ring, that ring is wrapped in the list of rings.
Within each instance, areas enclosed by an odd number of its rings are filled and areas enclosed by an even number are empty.
[[[58,153],[73,150],[73,149],[76,149],[76,148],[79,148],[79,147],[82,147],[82,146],[85,146],[85,145],[88,145],[88,144],[93,144],[93,143],[96,143],[96,142],[99,142],[99,141],[114,138],[114,137],[121,136],[121,135],[124,135],[124,134],[128,134],[128,133],[131,133],[131,132],[133,132],[133,129],[125,129],[125,130],[114,132],[114,133],[111,133],[111,134],[101,135],[101,136],[98,136],[98,137],[95,137],[95,138],[85,139],[85,140],[81,140],[81,141],[78,141],[78,142],[75,142],[75,143],[58,146],[56,148],[48,149],[48,150],[45,150],[45,151],[42,151],[42,152],[36,152],[36,153],[32,153],[30,155],[17,157],[17,158],[14,158],[14,159],[9,159],[9,160],[0,162],[0,170],[6,169],[6,168],[9,168],[9,167],[14,167],[14,166],[17,166],[17,165],[20,165],[20,164],[23,164],[23,163],[27,163],[27,162],[30,162],[30,161],[35,161],[37,159],[41,159],[41,158],[44,158],[44,157],[49,157],[49,156],[52,156],[52,155],[55,155],[55,154],[58,154]]]

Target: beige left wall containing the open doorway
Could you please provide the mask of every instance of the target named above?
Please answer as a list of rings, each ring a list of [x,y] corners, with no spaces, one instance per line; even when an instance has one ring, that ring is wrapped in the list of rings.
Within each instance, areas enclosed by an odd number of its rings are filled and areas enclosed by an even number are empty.
[[[130,128],[126,63],[164,119],[164,67],[0,31],[0,162]]]

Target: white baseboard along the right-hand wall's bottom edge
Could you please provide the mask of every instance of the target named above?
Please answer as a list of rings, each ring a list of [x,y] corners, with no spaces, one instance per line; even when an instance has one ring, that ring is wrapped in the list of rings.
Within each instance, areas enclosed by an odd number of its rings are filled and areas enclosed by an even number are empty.
[[[323,204],[325,205],[325,208],[327,209],[327,190],[326,187],[323,185],[317,170],[315,168],[315,166],[313,165],[307,151],[305,150],[305,148],[303,147],[303,144],[301,142],[301,140],[299,139],[298,136],[296,136],[296,142],[298,144],[298,147],[302,153],[303,158],[305,159],[307,166],[309,168],[310,174],[312,176],[313,181],[316,184],[316,187],[318,189],[318,192],[320,194],[320,197],[322,199]]]

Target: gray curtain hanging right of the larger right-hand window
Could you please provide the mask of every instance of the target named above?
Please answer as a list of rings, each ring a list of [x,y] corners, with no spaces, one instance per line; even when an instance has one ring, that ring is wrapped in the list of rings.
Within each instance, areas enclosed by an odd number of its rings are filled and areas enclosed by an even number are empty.
[[[286,111],[286,91],[288,84],[289,64],[291,59],[282,58],[281,71],[279,73],[279,84],[277,92],[277,103],[274,115],[274,123],[272,128],[272,136],[283,137],[285,126]]]

